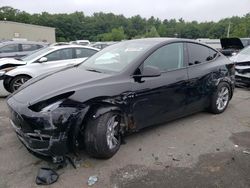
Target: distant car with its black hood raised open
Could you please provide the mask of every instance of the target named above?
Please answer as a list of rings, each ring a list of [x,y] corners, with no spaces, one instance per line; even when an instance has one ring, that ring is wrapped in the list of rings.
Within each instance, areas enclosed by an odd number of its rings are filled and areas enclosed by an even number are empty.
[[[250,38],[222,38],[220,42],[222,46],[221,53],[225,56],[232,56],[250,45]]]

